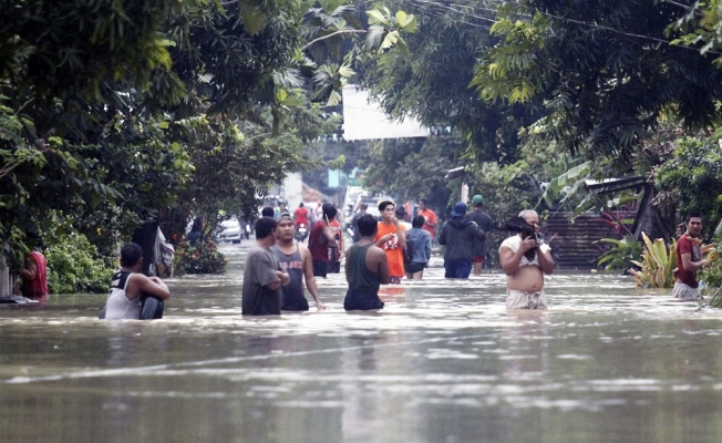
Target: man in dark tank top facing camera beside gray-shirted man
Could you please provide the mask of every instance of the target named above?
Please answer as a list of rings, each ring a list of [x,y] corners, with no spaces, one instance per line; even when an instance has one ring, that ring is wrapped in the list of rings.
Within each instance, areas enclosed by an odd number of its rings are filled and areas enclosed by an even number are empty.
[[[306,280],[306,288],[311,292],[311,297],[316,301],[316,309],[319,311],[326,309],[319,299],[319,288],[316,286],[316,279],[313,278],[311,251],[300,243],[293,241],[296,225],[290,214],[281,214],[276,230],[278,231],[278,238],[276,245],[271,246],[271,250],[291,279],[288,286],[281,287],[283,291],[281,310],[308,310],[308,300],[303,295],[303,280]]]

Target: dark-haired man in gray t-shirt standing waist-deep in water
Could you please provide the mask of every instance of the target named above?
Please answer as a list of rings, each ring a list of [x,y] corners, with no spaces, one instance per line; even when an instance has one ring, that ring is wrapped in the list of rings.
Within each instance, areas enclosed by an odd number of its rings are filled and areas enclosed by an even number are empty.
[[[290,278],[283,272],[270,247],[276,244],[276,220],[261,217],[256,222],[256,245],[248,250],[244,270],[241,313],[244,316],[278,316],[281,313],[281,285]]]

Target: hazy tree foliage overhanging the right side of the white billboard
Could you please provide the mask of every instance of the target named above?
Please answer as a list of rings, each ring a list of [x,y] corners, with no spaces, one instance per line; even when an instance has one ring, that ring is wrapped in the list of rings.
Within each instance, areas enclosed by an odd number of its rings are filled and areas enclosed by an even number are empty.
[[[458,136],[470,158],[514,162],[517,132],[540,116],[538,110],[487,103],[468,87],[477,60],[495,41],[488,23],[496,2],[395,2],[416,16],[419,30],[404,35],[411,55],[369,59],[359,69],[362,84],[392,117],[414,116],[439,134]]]

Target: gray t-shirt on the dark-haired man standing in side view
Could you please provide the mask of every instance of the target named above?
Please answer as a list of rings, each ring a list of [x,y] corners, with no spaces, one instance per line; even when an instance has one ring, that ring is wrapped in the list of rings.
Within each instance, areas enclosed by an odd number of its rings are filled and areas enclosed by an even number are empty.
[[[244,270],[244,289],[241,297],[241,313],[244,316],[278,316],[281,313],[283,291],[275,290],[268,285],[279,281],[277,270],[282,270],[278,258],[268,248],[254,245],[246,257]]]

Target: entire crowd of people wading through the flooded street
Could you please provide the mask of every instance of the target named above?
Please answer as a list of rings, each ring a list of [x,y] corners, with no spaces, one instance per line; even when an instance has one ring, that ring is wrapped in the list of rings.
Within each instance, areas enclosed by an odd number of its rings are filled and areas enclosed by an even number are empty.
[[[484,213],[481,195],[472,198],[472,205],[474,209],[468,212],[464,202],[457,202],[450,218],[439,228],[437,241],[445,246],[445,278],[465,279],[472,270],[479,274],[487,255],[486,234],[497,228]],[[436,215],[423,199],[411,223],[405,222],[405,208],[396,207],[391,200],[381,202],[378,208],[380,220],[367,214],[365,205],[361,206],[351,220],[352,245],[345,250],[340,224],[333,224],[337,216],[333,205],[321,206],[308,247],[296,238],[299,218],[308,223],[307,210],[297,209],[291,215],[286,208],[280,214],[265,208],[255,225],[256,243],[246,257],[241,313],[268,316],[285,310],[306,311],[309,309],[306,290],[318,310],[326,309],[316,278],[338,272],[341,257],[345,260],[348,282],[343,307],[349,311],[382,309],[381,285],[399,285],[403,277],[423,278],[436,234]],[[303,209],[302,205],[299,209]],[[678,241],[679,274],[673,296],[697,299],[700,295],[695,274],[709,266],[700,250],[701,216],[690,214],[685,228]],[[554,271],[555,261],[549,245],[540,235],[538,214],[530,209],[522,210],[505,229],[513,233],[499,247],[499,264],[506,275],[506,308],[547,309],[544,276]],[[138,272],[142,265],[140,246],[125,245],[121,250],[121,269],[113,275],[101,318],[157,319],[163,316],[163,302],[171,297],[168,287],[157,277]],[[39,285],[35,281],[43,269],[43,260],[33,253],[28,269],[22,274],[29,288]],[[31,289],[28,291],[31,293]]]

